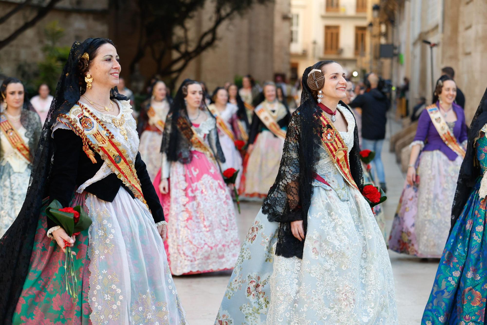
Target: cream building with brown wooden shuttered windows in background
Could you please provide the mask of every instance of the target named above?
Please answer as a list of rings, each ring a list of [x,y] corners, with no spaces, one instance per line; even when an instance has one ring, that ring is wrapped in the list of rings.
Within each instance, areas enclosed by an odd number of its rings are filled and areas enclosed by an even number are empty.
[[[320,60],[363,77],[369,69],[372,0],[291,0],[291,65],[300,77]]]

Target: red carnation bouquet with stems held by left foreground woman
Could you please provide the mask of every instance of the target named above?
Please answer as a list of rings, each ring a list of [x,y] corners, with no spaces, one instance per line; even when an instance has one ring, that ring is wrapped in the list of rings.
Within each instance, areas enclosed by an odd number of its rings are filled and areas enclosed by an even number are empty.
[[[74,208],[63,208],[57,200],[51,202],[46,208],[46,216],[61,226],[70,237],[79,235],[81,231],[88,229],[92,224],[92,220],[80,205]],[[64,244],[63,248],[66,250],[66,259],[64,261],[66,291],[72,296],[73,300],[76,300],[78,297],[76,294],[78,277],[76,276],[75,261],[73,260],[73,255],[76,255],[76,253],[72,251],[67,241],[64,241]]]

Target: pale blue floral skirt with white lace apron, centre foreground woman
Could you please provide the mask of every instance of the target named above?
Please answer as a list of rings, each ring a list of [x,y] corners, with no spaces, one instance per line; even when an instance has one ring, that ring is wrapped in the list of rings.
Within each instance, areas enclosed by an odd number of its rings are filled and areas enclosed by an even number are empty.
[[[313,187],[302,260],[274,255],[277,228],[259,212],[215,324],[397,324],[387,247],[357,190]]]

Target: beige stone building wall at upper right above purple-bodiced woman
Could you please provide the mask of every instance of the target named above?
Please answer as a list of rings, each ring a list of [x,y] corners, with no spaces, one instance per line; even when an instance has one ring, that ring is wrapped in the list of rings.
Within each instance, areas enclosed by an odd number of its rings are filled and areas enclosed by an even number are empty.
[[[387,6],[391,3],[391,6]],[[383,0],[382,8],[393,10],[394,45],[399,56],[393,60],[393,84],[410,79],[409,105],[420,97],[431,102],[432,82],[441,75],[441,68],[451,66],[455,81],[466,99],[469,124],[487,86],[487,1],[485,0]],[[433,48],[423,40],[437,43]]]

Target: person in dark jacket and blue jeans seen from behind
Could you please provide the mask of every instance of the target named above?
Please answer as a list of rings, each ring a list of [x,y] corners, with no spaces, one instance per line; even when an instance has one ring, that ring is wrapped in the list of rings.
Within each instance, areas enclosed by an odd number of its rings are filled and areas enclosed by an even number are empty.
[[[379,77],[374,73],[369,74],[365,81],[365,93],[358,95],[349,106],[362,109],[362,149],[375,151],[375,158],[371,163],[372,172],[377,172],[380,187],[386,192],[386,176],[380,154],[386,137],[386,112],[390,103],[386,95],[377,88],[378,84]]]

